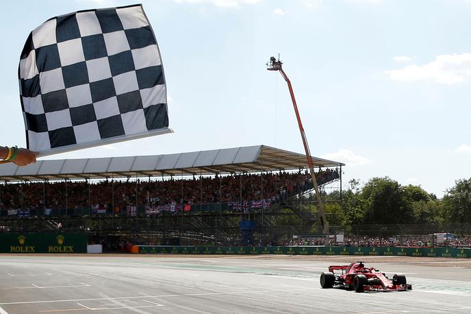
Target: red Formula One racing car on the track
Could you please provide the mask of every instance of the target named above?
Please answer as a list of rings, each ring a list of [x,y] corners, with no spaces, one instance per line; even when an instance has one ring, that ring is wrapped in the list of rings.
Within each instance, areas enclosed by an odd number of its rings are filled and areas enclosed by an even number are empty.
[[[335,274],[334,271],[342,271],[342,274]],[[357,292],[364,291],[406,291],[412,286],[407,285],[404,275],[395,274],[392,278],[387,278],[374,267],[365,267],[359,261],[343,266],[329,266],[329,272],[320,275],[320,286],[327,288],[353,289]]]

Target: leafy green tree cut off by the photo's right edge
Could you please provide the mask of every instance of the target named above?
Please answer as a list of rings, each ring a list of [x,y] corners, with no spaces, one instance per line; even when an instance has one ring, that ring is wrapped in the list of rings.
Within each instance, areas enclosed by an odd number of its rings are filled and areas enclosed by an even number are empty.
[[[455,181],[443,197],[445,219],[450,223],[471,222],[471,178]]]

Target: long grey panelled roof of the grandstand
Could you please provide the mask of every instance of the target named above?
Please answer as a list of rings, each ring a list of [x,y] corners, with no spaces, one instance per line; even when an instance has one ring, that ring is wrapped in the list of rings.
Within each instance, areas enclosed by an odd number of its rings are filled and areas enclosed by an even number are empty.
[[[312,160],[316,167],[344,166],[342,162],[317,157],[312,157]],[[39,160],[35,164],[25,167],[8,163],[0,165],[0,180],[180,176],[181,174],[254,172],[262,169],[264,171],[279,171],[307,167],[304,154],[257,145],[153,156]]]

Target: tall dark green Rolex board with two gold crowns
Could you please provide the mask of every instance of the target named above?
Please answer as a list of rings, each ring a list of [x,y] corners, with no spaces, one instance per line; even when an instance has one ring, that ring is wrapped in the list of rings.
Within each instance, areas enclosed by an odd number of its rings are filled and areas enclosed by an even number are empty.
[[[0,234],[0,253],[86,253],[86,233]]]

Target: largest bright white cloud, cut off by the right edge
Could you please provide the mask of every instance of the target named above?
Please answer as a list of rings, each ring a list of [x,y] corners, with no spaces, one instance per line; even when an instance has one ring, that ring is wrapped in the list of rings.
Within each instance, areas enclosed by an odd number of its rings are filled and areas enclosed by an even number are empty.
[[[471,77],[471,53],[436,56],[427,64],[412,64],[385,73],[392,80],[402,82],[431,80],[442,84],[461,83]]]

